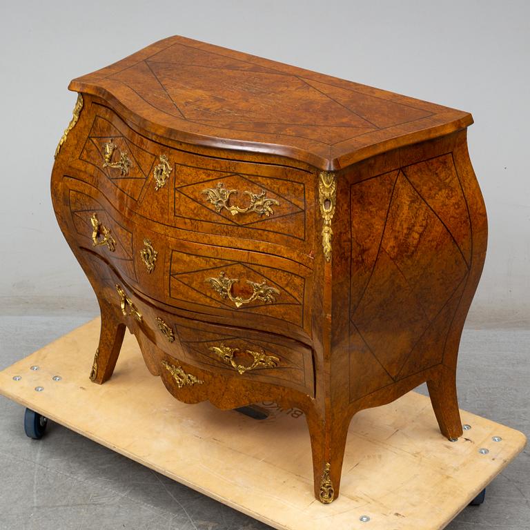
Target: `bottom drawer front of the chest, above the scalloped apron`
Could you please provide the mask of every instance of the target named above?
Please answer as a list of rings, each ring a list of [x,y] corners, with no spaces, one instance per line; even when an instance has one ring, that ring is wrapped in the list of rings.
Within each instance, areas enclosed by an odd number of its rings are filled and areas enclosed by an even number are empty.
[[[154,357],[148,362],[151,371],[160,370],[155,365],[161,355],[152,351],[155,344],[173,359],[213,377],[230,378],[236,384],[239,380],[246,388],[249,383],[273,384],[314,397],[313,351],[309,346],[274,333],[179,316],[168,311],[168,306],[158,306],[135,293],[104,259],[86,253],[92,270],[105,285],[104,297],[127,316],[125,320],[137,335],[146,362]]]

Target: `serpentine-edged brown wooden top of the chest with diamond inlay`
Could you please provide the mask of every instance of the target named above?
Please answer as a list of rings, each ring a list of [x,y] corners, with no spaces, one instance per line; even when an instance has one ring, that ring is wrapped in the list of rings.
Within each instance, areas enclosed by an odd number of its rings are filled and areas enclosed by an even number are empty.
[[[106,99],[157,135],[328,170],[473,121],[467,112],[178,36],[74,79],[70,89]]]

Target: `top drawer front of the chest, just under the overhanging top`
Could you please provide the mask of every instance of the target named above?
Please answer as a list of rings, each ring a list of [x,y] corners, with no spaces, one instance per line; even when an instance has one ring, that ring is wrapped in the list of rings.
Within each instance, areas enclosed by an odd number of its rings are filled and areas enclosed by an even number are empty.
[[[90,111],[79,153],[83,170],[138,215],[233,237],[233,246],[246,239],[313,254],[313,173],[166,146],[136,133],[104,106],[92,104]]]

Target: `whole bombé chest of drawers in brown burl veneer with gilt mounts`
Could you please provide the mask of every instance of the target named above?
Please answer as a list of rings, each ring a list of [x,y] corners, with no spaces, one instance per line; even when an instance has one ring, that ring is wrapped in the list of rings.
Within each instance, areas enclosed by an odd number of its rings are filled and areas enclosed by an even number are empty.
[[[469,113],[183,37],[70,89],[52,198],[101,308],[94,382],[127,327],[181,401],[299,407],[324,503],[361,409],[426,381],[461,435],[487,242]]]

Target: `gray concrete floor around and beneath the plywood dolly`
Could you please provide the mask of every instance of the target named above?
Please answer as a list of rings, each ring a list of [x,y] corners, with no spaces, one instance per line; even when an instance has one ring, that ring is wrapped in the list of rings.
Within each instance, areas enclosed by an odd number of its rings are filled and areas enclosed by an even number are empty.
[[[86,320],[0,317],[0,369]],[[529,344],[527,330],[466,329],[458,378],[462,409],[528,435]],[[23,410],[0,396],[0,530],[269,528],[57,424],[48,426],[46,440],[30,440]],[[490,484],[482,506],[468,507],[446,528],[473,527],[530,528],[528,449]]]

